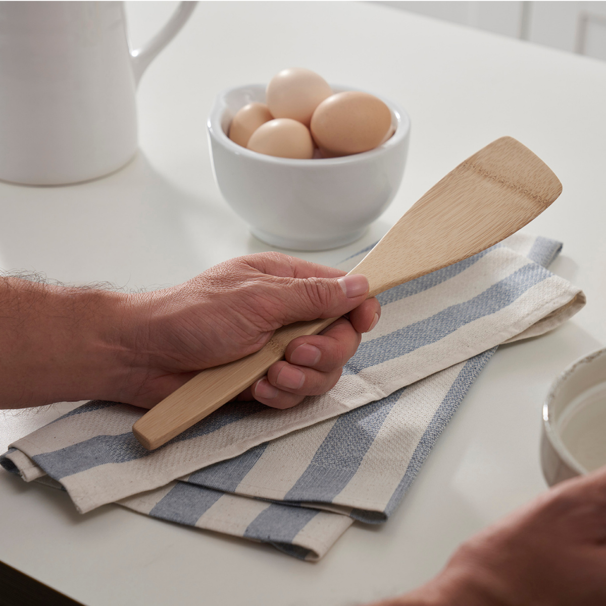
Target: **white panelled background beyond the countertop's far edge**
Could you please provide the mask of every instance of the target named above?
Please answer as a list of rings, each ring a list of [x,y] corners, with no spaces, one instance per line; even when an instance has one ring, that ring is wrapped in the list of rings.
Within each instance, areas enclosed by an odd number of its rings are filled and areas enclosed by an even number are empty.
[[[381,4],[606,61],[606,2],[426,0]]]

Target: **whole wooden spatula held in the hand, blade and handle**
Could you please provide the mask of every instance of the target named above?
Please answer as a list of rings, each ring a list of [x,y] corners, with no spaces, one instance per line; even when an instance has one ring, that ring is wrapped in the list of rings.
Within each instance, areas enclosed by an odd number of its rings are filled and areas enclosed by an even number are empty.
[[[350,273],[370,282],[369,297],[467,259],[524,227],[562,191],[550,168],[511,137],[487,145],[434,185]],[[133,425],[153,450],[210,415],[284,357],[288,342],[316,335],[336,318],[276,330],[256,353],[208,368]]]

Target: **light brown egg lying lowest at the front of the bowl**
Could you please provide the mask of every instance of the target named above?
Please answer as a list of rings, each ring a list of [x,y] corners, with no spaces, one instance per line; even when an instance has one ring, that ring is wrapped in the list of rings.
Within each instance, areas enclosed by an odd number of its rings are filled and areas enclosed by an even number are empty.
[[[313,139],[308,128],[290,118],[262,124],[251,135],[247,147],[279,158],[310,159],[313,156]]]

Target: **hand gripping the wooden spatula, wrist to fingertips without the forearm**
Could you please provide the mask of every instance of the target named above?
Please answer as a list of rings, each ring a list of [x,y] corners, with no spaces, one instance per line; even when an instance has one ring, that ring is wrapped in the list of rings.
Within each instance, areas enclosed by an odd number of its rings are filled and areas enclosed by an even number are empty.
[[[133,296],[127,334],[136,345],[127,347],[141,352],[135,365],[142,373],[133,377],[136,391],[128,402],[151,407],[196,371],[259,350],[285,324],[348,314],[320,335],[291,341],[285,360],[239,399],[288,408],[328,391],[361,333],[371,330],[381,313],[376,299],[366,299],[364,276],[342,278],[344,273],[261,253],[221,263],[176,287]]]

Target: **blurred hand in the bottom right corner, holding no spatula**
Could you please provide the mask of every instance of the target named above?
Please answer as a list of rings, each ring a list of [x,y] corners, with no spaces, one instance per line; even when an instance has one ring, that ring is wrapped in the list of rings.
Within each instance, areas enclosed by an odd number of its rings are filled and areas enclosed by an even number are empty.
[[[606,467],[465,542],[427,585],[375,606],[606,604]]]

